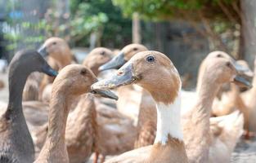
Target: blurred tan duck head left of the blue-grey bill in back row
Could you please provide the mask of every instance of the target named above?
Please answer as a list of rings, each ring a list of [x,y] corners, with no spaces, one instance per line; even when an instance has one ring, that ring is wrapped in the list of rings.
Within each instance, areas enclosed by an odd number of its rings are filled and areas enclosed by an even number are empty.
[[[98,68],[102,64],[106,64],[112,59],[113,52],[105,47],[97,47],[93,49],[83,60],[83,65],[90,68],[92,72],[97,76],[99,73]]]

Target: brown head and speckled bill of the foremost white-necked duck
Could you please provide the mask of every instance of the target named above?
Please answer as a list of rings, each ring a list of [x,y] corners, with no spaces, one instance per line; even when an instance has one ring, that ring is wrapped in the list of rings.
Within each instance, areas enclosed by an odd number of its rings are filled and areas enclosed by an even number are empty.
[[[181,89],[177,69],[158,51],[137,53],[109,79],[92,85],[94,89],[113,89],[136,83],[148,90],[156,102],[171,103]]]

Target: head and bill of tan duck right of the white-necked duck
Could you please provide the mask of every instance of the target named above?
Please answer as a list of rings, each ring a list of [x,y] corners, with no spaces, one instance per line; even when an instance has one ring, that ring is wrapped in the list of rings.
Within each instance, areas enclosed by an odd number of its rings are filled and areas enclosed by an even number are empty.
[[[251,87],[251,83],[240,74],[240,69],[236,67],[231,59],[213,58],[205,60],[207,67],[203,75],[203,81],[215,82],[219,85],[227,82],[234,82],[241,87]]]

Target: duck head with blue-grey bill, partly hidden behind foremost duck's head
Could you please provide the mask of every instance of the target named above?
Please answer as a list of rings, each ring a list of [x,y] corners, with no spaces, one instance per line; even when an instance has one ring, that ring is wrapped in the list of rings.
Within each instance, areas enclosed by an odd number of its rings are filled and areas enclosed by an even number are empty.
[[[104,71],[107,69],[120,68],[122,67],[129,59],[132,58],[133,55],[137,54],[141,51],[147,51],[146,46],[141,44],[129,44],[128,46],[124,46],[124,48],[116,55],[113,59],[111,59],[106,64],[103,64],[99,71]]]

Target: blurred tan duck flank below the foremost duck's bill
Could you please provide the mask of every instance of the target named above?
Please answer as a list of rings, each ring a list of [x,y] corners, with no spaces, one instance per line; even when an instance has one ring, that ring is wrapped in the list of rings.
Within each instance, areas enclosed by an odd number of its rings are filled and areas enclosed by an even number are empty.
[[[119,155],[133,149],[137,128],[133,121],[115,108],[97,104],[99,152],[103,156]]]

